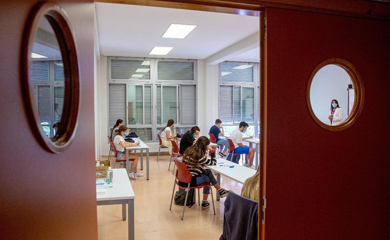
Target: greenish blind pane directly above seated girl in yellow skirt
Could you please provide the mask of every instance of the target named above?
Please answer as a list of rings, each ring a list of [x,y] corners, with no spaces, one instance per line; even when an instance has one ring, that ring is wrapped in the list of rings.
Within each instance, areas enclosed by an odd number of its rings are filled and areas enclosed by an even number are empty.
[[[176,86],[163,86],[163,124],[173,119],[177,123],[177,92]]]

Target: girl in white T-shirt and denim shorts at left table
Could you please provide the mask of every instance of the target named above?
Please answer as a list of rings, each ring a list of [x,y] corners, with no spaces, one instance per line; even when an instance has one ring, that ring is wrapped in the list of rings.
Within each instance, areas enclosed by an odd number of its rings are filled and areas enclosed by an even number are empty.
[[[115,138],[114,138],[114,145],[118,151],[118,155],[117,155],[116,160],[126,160],[126,154],[124,154],[125,148],[126,147],[137,147],[137,145],[138,145],[138,142],[131,143],[131,142],[126,142],[124,140],[124,137],[126,137],[126,135],[127,135],[127,130],[128,130],[128,128],[124,125],[119,126],[118,130],[115,130],[115,131],[117,131],[117,133],[116,133]],[[131,151],[129,151],[129,152],[131,152]],[[137,179],[137,177],[144,176],[144,174],[137,171],[138,155],[131,153],[131,154],[129,154],[129,160],[130,159],[133,160],[135,173],[133,173],[132,172],[133,169],[129,167],[129,170],[130,170],[129,177],[133,178],[133,179]]]

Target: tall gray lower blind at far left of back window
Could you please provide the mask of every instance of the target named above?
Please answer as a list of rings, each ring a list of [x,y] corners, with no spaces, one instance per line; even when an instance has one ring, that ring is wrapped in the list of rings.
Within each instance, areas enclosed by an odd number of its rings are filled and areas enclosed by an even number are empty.
[[[117,119],[126,121],[126,84],[109,84],[108,88],[109,124],[113,127]]]

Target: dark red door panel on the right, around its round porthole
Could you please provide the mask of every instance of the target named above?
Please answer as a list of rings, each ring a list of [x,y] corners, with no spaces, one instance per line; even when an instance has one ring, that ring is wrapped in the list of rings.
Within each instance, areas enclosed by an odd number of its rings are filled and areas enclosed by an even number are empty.
[[[390,23],[266,9],[266,239],[388,239]],[[309,113],[306,88],[322,61],[360,73],[356,122],[328,131]]]

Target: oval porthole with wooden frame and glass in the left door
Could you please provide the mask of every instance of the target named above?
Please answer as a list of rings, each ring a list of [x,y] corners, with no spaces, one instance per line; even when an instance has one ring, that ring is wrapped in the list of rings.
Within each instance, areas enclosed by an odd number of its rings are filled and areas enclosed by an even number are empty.
[[[21,51],[27,119],[45,149],[63,152],[77,126],[80,84],[74,36],[59,5],[35,5],[26,22]]]

